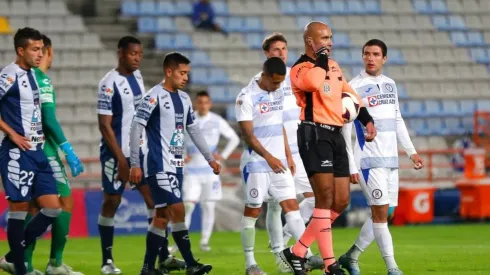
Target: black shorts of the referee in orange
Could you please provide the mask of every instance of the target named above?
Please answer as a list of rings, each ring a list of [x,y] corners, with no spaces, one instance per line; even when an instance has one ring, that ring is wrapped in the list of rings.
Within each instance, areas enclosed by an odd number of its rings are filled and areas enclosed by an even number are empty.
[[[315,173],[348,177],[349,158],[341,127],[302,122],[298,127],[299,154],[310,178]]]

